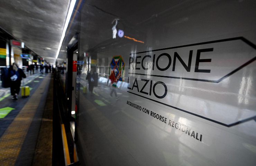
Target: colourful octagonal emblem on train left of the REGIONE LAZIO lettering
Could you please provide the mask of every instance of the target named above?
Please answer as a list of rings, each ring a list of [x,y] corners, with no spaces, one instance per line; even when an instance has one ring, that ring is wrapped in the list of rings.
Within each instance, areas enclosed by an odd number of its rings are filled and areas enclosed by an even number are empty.
[[[109,79],[113,87],[120,88],[125,81],[125,62],[121,55],[113,56],[110,62]]]

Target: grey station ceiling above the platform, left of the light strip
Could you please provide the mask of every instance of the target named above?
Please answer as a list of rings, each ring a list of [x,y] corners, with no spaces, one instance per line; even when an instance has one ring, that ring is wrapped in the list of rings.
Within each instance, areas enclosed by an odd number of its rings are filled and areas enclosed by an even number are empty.
[[[69,0],[0,0],[0,27],[54,63]]]

